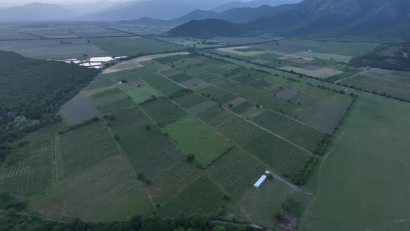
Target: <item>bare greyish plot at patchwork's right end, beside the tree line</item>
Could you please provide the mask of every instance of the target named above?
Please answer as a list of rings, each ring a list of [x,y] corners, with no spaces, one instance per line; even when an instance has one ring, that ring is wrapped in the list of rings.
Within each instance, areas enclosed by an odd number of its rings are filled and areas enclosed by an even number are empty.
[[[344,104],[322,100],[303,118],[302,122],[322,132],[332,134],[346,109],[347,106]]]

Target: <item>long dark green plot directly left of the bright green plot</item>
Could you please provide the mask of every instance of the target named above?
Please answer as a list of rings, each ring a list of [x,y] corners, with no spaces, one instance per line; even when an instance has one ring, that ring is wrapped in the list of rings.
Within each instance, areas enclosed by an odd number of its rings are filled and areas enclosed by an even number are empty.
[[[137,172],[144,172],[150,180],[185,159],[179,147],[138,108],[117,113],[111,124],[126,158]]]

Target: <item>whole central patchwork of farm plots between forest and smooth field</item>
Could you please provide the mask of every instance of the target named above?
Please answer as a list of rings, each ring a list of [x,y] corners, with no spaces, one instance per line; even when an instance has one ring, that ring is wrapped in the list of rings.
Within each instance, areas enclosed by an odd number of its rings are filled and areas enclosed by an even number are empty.
[[[255,56],[271,54],[262,53]],[[35,174],[42,180],[27,182],[33,142],[14,151],[21,159],[0,168],[0,185],[30,198],[33,212],[54,218],[121,221],[155,212],[272,226],[265,211],[311,195],[304,182],[312,160],[329,149],[354,101],[277,73],[185,53],[117,64],[67,102],[64,121],[41,137],[39,155],[48,167]],[[274,179],[252,187],[266,170]],[[271,199],[263,205],[263,198]]]

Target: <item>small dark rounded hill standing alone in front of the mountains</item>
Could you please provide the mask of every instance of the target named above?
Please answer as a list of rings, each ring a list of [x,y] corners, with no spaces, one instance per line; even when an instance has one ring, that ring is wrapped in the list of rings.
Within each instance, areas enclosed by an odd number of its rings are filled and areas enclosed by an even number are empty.
[[[222,19],[192,20],[168,31],[170,37],[213,38],[221,36],[239,36],[249,33],[249,28],[243,24],[236,24]]]

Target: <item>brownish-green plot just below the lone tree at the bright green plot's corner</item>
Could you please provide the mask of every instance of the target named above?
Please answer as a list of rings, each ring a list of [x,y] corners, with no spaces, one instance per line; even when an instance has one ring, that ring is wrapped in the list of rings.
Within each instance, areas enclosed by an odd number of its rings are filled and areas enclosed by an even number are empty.
[[[146,189],[154,203],[163,206],[203,175],[204,173],[195,165],[184,161],[151,182]]]

